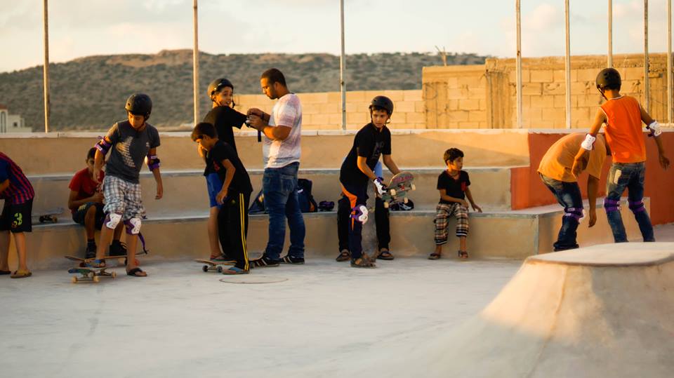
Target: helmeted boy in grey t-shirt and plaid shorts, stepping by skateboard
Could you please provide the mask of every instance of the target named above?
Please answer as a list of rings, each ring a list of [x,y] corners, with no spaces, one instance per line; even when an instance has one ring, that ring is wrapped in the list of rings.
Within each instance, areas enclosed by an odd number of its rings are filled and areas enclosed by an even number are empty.
[[[92,266],[105,266],[105,248],[112,241],[112,233],[119,222],[126,226],[126,245],[128,253],[136,252],[138,233],[145,209],[140,201],[140,182],[138,180],[143,161],[152,171],[157,182],[157,196],[164,195],[159,173],[159,132],[154,126],[147,123],[152,112],[152,100],[143,93],[131,95],[126,100],[126,121],[119,121],[112,125],[107,135],[95,144],[93,180],[98,182],[100,170],[108,151],[110,158],[106,165],[106,175],[103,179],[103,196],[105,197],[105,221],[100,231],[100,243],[96,249],[96,259]],[[135,258],[128,258],[126,274],[135,277],[145,277],[147,274],[137,266]]]

